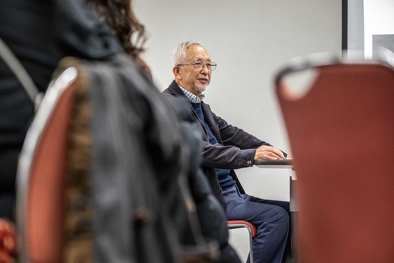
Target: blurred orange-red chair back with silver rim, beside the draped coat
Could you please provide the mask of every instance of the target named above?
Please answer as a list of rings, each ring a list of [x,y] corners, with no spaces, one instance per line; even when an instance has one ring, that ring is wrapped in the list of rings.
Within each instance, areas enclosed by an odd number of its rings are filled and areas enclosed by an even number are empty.
[[[20,262],[62,262],[67,132],[77,69],[50,83],[27,133],[17,173]]]

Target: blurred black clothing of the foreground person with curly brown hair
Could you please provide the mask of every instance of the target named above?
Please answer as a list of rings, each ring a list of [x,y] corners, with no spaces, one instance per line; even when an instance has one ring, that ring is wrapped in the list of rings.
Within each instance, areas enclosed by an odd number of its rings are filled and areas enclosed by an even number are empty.
[[[123,52],[82,0],[0,0],[0,4],[0,38],[41,93],[63,57],[102,60]],[[17,161],[34,103],[2,59],[0,112],[0,217],[14,220]]]

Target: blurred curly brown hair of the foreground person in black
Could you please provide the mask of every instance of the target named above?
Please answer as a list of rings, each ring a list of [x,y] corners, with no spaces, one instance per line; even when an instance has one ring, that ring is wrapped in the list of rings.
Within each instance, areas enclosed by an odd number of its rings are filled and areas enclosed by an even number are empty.
[[[145,27],[132,12],[131,0],[88,0],[88,3],[118,37],[127,53],[138,56],[144,51]]]

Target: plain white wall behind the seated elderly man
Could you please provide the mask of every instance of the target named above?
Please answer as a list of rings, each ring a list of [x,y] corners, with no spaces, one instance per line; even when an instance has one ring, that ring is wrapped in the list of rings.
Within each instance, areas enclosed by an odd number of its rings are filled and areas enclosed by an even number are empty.
[[[133,7],[149,33],[144,58],[160,91],[173,79],[173,48],[201,41],[218,64],[204,101],[232,125],[291,152],[273,77],[290,58],[340,50],[341,0],[134,0]],[[237,173],[249,194],[289,200],[291,172]]]

